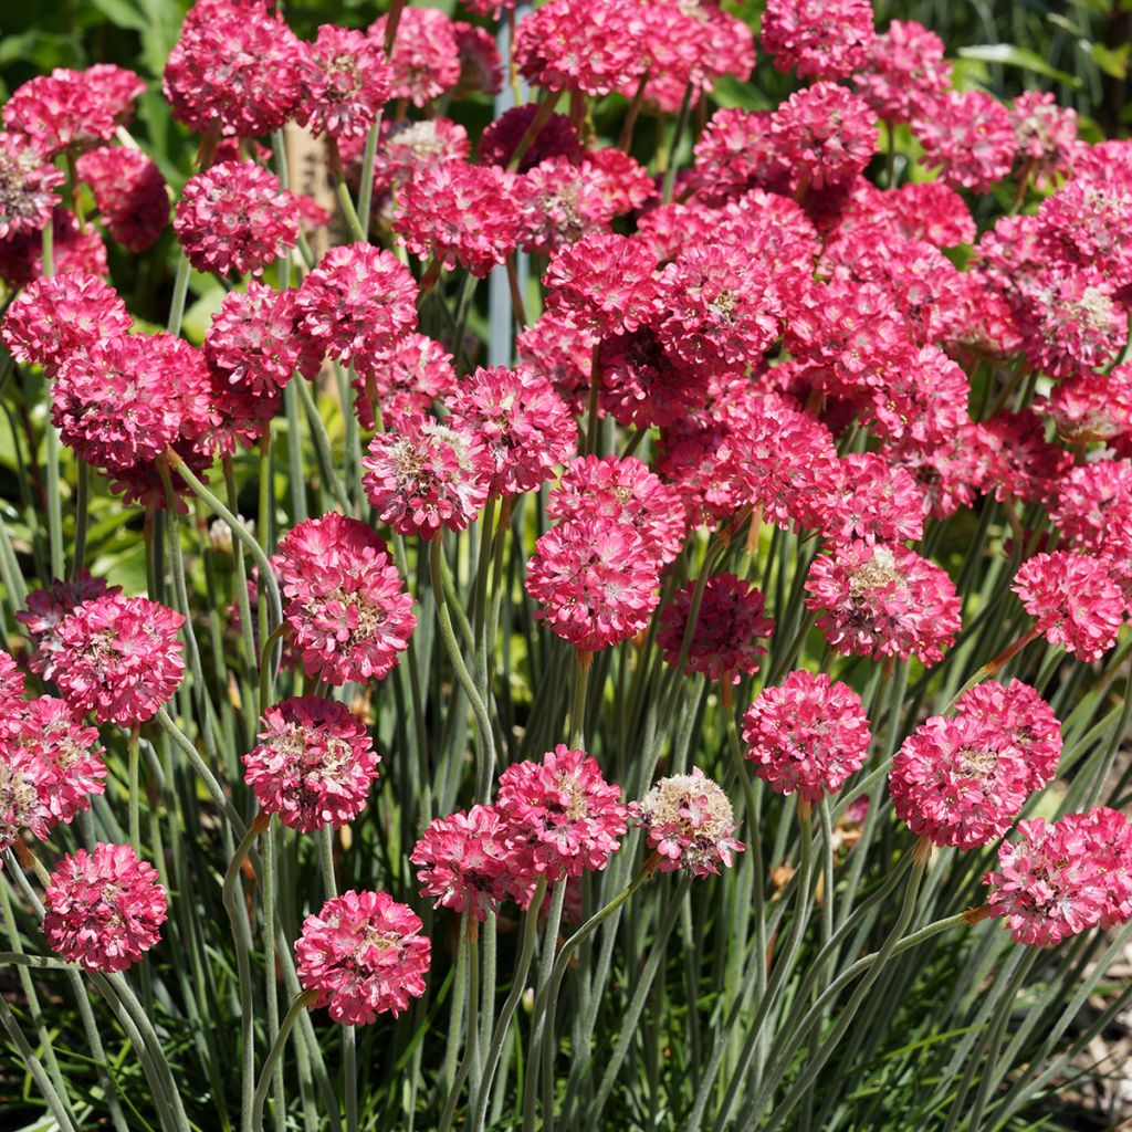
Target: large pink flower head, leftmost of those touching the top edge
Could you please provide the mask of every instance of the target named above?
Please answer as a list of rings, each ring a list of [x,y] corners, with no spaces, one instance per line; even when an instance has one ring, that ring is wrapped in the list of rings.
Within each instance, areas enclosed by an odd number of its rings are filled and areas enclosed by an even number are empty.
[[[286,24],[254,5],[213,2],[189,12],[169,53],[162,88],[173,117],[204,134],[263,137],[302,97],[302,44]]]

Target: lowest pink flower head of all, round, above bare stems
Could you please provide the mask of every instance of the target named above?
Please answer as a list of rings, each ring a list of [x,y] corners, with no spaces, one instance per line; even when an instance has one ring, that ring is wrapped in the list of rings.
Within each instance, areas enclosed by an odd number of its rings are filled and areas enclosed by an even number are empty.
[[[294,945],[299,981],[336,1022],[396,1018],[424,993],[432,945],[420,929],[421,918],[387,892],[344,892],[303,921]]]

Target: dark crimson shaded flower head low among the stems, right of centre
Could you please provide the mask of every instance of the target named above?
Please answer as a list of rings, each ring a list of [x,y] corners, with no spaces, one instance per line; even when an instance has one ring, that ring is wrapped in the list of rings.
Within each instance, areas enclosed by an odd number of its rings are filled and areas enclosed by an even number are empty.
[[[660,615],[657,644],[669,664],[678,664],[692,614],[695,581],[672,595]],[[703,588],[700,616],[692,634],[685,675],[703,672],[710,680],[738,684],[741,674],[754,676],[766,650],[758,644],[774,633],[774,621],[764,616],[762,591],[736,577],[715,574]]]

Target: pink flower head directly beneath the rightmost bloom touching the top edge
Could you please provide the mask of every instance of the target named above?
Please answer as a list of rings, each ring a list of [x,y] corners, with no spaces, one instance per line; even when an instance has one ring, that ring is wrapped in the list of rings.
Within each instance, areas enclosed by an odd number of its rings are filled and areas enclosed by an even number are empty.
[[[835,83],[795,91],[770,125],[796,182],[815,189],[851,181],[876,153],[876,119],[868,103]]]

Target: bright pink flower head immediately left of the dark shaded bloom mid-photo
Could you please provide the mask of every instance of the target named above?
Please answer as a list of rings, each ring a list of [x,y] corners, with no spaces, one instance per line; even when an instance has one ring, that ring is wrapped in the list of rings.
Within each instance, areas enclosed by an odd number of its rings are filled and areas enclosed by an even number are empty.
[[[534,546],[526,592],[534,616],[585,652],[620,644],[646,628],[660,600],[660,564],[641,535],[611,518],[560,523]]]

